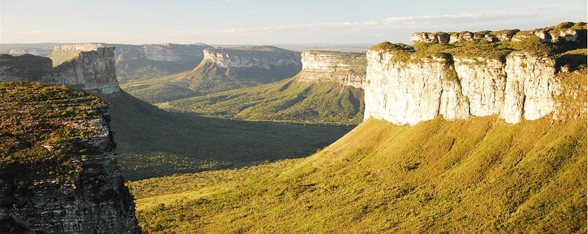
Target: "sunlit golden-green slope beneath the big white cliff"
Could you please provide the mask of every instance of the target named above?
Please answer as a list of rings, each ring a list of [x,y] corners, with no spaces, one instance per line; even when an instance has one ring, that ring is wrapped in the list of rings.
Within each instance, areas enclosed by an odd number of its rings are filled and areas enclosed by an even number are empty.
[[[144,233],[586,233],[586,153],[586,118],[368,120],[308,158],[129,186]]]

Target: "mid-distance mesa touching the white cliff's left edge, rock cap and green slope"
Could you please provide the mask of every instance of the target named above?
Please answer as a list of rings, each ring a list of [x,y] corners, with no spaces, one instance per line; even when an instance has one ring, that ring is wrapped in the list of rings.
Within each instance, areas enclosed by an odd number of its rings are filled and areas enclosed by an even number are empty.
[[[359,124],[366,66],[361,53],[307,51],[302,53],[302,71],[290,79],[158,106],[242,120]]]

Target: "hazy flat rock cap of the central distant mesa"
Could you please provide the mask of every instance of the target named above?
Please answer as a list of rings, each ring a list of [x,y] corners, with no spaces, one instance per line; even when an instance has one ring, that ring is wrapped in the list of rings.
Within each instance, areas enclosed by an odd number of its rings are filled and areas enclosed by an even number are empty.
[[[233,48],[205,49],[204,59],[218,67],[253,67],[275,69],[276,67],[299,67],[300,53],[273,46],[243,46]]]

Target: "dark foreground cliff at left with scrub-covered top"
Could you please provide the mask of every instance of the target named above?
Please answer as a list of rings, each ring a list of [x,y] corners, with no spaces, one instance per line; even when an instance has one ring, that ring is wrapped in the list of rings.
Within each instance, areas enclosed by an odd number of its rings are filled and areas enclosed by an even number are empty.
[[[1,232],[141,232],[106,107],[64,86],[0,83]]]

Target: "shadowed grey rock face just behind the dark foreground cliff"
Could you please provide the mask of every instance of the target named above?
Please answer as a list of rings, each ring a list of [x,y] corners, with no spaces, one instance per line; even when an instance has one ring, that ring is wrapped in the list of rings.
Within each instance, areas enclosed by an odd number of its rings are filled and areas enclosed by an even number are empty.
[[[73,60],[52,69],[47,67],[48,60],[44,57],[28,55],[23,61],[24,56],[4,56],[6,59],[0,63],[0,81],[36,81],[92,93],[115,93],[120,88],[116,81],[114,51],[114,48],[95,48],[79,52]],[[28,70],[15,69],[14,64]]]

